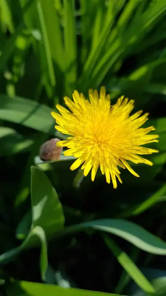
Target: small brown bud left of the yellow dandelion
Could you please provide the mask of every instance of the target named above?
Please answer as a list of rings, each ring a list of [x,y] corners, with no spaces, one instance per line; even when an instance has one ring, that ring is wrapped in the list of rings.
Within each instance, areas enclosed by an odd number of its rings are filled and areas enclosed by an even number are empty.
[[[60,159],[63,147],[57,147],[56,143],[61,141],[58,138],[45,142],[39,151],[39,157],[43,161]]]

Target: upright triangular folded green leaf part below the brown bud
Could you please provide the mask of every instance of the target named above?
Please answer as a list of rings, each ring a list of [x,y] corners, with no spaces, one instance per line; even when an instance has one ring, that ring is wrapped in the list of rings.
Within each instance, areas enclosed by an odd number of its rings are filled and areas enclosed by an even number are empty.
[[[42,170],[32,166],[33,227],[41,226],[47,237],[64,227],[64,213],[58,194]]]

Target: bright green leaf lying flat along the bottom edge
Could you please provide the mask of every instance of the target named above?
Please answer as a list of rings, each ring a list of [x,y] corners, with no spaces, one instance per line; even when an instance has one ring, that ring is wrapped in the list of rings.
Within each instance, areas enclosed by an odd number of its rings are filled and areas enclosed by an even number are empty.
[[[31,296],[118,296],[95,291],[86,291],[79,289],[67,289],[54,285],[38,284],[31,282],[20,282],[20,287]],[[120,295],[119,295],[120,296]]]

